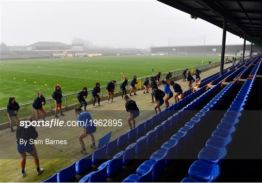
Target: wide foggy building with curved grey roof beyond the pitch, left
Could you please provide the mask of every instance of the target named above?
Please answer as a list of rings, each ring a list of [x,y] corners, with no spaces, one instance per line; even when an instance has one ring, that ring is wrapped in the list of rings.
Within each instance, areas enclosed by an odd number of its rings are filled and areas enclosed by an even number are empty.
[[[71,50],[70,45],[60,42],[36,42],[27,46],[27,50],[50,51],[50,50]]]

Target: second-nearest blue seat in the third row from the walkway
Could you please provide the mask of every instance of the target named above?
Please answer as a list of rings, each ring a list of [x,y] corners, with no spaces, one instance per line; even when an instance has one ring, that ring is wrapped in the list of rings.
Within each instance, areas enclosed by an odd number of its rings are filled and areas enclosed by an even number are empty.
[[[151,155],[150,161],[145,161],[136,169],[136,173],[139,176],[144,175],[146,172],[149,171],[151,166],[154,165],[152,171],[152,180],[156,180],[164,170],[166,153],[167,152],[164,150],[157,150]]]

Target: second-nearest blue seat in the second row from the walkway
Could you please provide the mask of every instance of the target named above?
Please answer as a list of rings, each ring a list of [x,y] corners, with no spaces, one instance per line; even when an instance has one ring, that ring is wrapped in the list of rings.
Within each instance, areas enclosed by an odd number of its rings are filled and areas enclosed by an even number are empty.
[[[101,170],[104,166],[107,166],[107,176],[112,177],[117,173],[123,166],[123,156],[125,151],[122,150],[115,154],[112,160],[108,160],[107,162],[103,163],[98,167],[98,170]]]

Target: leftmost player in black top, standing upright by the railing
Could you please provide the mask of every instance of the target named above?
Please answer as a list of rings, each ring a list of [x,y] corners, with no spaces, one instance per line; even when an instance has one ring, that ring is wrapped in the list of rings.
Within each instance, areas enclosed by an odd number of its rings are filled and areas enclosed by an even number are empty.
[[[16,98],[15,97],[10,97],[9,98],[9,102],[7,104],[7,116],[9,119],[9,125],[11,128],[11,132],[14,132],[13,129],[13,117],[16,118],[16,125],[19,125],[19,118],[17,116],[18,111],[19,111],[19,104],[16,102]]]

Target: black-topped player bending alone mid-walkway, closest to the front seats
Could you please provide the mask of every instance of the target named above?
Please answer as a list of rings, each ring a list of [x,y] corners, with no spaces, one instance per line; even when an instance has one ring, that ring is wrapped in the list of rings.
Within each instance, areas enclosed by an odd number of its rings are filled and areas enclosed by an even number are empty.
[[[125,95],[126,100],[126,111],[130,112],[130,115],[127,118],[127,123],[130,127],[130,130],[135,128],[135,118],[139,116],[139,109],[134,100],[131,100],[127,95]],[[133,122],[133,125],[131,124]]]

